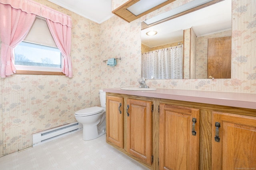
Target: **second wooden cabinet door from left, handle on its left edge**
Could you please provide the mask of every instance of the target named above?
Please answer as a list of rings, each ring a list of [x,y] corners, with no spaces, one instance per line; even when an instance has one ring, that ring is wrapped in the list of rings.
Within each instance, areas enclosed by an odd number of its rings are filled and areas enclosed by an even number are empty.
[[[151,164],[152,102],[127,99],[127,152]]]

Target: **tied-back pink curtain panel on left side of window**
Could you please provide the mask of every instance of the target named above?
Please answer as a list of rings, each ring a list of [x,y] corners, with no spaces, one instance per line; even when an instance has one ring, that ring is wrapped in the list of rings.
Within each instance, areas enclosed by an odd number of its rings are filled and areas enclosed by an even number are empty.
[[[16,72],[12,62],[13,49],[26,37],[31,28],[35,14],[28,14],[9,4],[0,3],[0,76],[5,78]]]

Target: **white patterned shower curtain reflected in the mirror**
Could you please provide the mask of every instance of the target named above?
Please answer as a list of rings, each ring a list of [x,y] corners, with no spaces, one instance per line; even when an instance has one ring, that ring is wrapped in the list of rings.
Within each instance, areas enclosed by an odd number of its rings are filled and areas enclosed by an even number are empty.
[[[183,45],[142,53],[142,77],[182,79]]]

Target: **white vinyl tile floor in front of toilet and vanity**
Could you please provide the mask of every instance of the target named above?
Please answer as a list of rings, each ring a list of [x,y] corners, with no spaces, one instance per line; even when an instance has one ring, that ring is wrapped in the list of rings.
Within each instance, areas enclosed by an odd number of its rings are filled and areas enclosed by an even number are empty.
[[[0,170],[149,170],[106,143],[82,140],[82,131],[0,157]]]

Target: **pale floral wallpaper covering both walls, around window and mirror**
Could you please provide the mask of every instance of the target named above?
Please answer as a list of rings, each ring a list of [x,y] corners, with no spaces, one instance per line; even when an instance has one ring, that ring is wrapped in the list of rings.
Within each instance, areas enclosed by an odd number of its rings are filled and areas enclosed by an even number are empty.
[[[176,0],[130,23],[113,16],[101,24],[46,0],[35,1],[72,17],[74,77],[15,74],[0,79],[0,156],[31,147],[33,133],[76,121],[78,109],[99,106],[99,89],[138,86],[141,21],[191,0]],[[256,93],[255,6],[256,1],[232,1],[231,79],[146,80],[148,86]],[[116,57],[121,60],[114,67],[103,62]]]

